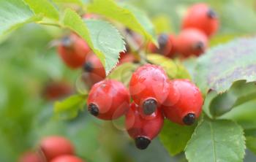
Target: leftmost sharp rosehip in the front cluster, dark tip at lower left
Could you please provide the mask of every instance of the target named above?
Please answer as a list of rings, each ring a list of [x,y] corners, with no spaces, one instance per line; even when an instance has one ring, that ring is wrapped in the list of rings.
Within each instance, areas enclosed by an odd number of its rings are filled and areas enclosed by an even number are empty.
[[[129,91],[121,82],[102,80],[92,86],[87,105],[91,115],[103,120],[113,120],[129,109]]]

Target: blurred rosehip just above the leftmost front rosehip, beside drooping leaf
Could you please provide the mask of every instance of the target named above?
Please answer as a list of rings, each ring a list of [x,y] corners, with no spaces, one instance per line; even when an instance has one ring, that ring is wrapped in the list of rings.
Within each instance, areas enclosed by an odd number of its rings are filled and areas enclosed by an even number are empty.
[[[86,72],[86,76],[83,80],[89,85],[94,85],[96,82],[104,80],[106,77],[104,66],[94,54],[89,55],[83,69]]]

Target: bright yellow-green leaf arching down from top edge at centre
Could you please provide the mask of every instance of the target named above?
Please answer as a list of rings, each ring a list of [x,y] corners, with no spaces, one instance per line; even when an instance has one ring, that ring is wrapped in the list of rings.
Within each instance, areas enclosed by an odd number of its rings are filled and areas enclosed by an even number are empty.
[[[104,15],[123,23],[157,44],[154,26],[140,10],[128,5],[118,5],[113,0],[94,0],[89,4],[88,9],[89,12]]]

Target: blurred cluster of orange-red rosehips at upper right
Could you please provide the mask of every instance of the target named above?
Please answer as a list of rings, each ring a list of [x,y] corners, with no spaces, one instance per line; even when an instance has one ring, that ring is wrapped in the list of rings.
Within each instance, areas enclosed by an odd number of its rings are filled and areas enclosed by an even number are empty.
[[[176,54],[183,58],[200,55],[206,51],[208,38],[216,33],[219,20],[216,12],[207,4],[195,4],[188,9],[182,20],[182,30],[177,36],[160,34],[159,48],[153,43],[148,44],[148,52],[160,53],[173,58]]]

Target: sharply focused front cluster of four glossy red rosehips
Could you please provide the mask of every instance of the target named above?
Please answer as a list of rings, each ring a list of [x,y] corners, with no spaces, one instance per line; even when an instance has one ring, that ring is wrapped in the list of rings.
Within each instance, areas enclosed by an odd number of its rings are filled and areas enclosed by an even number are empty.
[[[132,74],[129,90],[116,80],[102,80],[92,86],[87,101],[91,115],[102,120],[125,115],[128,134],[139,149],[146,149],[159,134],[165,117],[189,126],[200,116],[202,105],[196,85],[189,80],[169,80],[160,66],[151,64]]]

